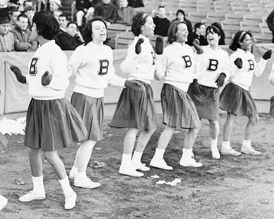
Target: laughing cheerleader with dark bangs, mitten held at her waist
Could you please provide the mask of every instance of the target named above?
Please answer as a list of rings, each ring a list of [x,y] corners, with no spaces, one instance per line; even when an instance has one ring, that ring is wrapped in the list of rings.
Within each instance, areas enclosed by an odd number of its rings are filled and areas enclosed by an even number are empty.
[[[207,119],[210,123],[212,157],[219,159],[219,88],[228,76],[229,56],[219,47],[221,31],[218,27],[207,27],[206,37],[208,46],[203,47],[202,54],[196,55],[197,79],[193,80],[188,94],[196,105],[199,118]]]

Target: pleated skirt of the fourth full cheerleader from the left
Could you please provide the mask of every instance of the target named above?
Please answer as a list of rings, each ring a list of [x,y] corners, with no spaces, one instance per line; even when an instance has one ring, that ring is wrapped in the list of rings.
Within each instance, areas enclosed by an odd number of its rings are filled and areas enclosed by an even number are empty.
[[[195,104],[186,92],[164,83],[161,102],[164,124],[177,129],[201,127]]]

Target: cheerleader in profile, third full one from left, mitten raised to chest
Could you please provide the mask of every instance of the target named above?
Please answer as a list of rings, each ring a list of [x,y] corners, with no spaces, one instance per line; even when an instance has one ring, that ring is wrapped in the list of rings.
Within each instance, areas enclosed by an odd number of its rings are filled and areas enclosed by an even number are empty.
[[[123,157],[119,172],[123,175],[142,177],[136,170],[148,171],[150,168],[141,163],[142,152],[157,128],[157,114],[153,101],[151,81],[155,70],[155,53],[149,43],[154,34],[155,25],[148,14],[139,13],[133,18],[132,32],[136,36],[127,51],[127,57],[121,64],[121,70],[129,80],[136,80],[145,87],[144,92],[123,89],[117,104],[111,127],[127,128],[123,143]],[[136,150],[132,157],[138,131]]]

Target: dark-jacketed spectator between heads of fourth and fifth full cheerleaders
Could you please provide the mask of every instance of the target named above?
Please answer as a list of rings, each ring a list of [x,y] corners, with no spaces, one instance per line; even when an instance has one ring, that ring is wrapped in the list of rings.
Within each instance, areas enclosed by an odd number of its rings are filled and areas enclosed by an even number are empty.
[[[205,23],[196,23],[194,25],[195,31],[188,34],[188,42],[186,44],[193,46],[192,42],[195,39],[200,41],[201,46],[208,45],[208,40],[206,40],[206,25]]]

